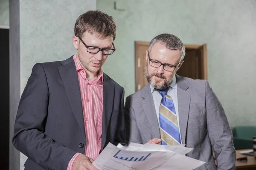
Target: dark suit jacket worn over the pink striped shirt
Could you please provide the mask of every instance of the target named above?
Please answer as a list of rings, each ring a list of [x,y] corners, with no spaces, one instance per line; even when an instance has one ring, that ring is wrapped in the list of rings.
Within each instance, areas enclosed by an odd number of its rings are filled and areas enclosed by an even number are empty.
[[[102,149],[124,142],[124,89],[103,74]],[[67,170],[86,143],[79,81],[73,57],[37,63],[20,99],[13,145],[34,170]]]

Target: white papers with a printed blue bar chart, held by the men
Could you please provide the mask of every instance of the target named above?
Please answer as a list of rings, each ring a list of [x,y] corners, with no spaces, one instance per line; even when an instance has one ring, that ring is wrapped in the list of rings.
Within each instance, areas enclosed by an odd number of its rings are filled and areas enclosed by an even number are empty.
[[[205,162],[185,156],[184,145],[108,143],[93,165],[99,170],[192,170]]]

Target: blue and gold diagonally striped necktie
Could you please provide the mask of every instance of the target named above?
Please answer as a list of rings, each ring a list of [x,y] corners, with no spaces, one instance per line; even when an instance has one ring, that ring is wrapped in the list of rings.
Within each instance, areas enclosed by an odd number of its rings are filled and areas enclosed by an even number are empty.
[[[159,124],[162,144],[180,144],[180,132],[172,97],[169,89],[159,91],[163,96],[159,108]]]

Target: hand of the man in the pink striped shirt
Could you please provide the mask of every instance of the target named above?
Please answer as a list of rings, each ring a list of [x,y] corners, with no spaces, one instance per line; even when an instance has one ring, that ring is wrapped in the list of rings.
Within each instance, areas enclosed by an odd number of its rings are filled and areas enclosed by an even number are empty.
[[[92,163],[93,159],[81,154],[76,157],[72,170],[98,170]]]

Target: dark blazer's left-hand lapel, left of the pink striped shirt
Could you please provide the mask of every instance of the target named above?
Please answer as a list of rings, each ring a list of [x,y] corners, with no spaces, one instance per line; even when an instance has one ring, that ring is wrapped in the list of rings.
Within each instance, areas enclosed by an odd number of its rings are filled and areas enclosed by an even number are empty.
[[[69,59],[62,61],[61,64],[63,64],[63,66],[59,67],[58,69],[71,105],[71,109],[76,117],[76,121],[85,135],[81,93],[75,62],[73,57],[70,57]]]

